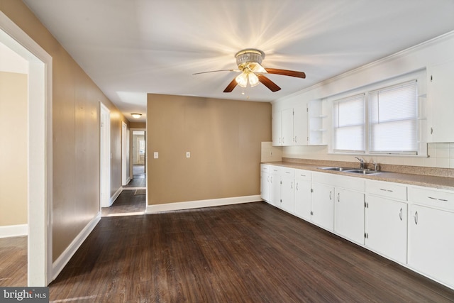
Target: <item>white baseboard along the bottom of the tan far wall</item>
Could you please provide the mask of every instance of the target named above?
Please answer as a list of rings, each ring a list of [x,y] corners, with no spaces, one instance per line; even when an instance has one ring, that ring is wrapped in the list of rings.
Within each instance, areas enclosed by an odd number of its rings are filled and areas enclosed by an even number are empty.
[[[249,202],[262,201],[260,194],[254,196],[231,197],[221,199],[206,199],[198,201],[175,202],[167,204],[153,204],[147,205],[146,214],[156,214],[162,211],[176,211],[182,209],[198,209],[201,207],[221,206],[230,204],[240,204]]]

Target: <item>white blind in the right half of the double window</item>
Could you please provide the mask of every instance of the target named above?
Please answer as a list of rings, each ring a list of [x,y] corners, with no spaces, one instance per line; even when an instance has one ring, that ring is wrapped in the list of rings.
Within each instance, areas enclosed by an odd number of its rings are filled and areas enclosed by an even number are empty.
[[[416,81],[369,93],[369,151],[417,153],[418,85]]]

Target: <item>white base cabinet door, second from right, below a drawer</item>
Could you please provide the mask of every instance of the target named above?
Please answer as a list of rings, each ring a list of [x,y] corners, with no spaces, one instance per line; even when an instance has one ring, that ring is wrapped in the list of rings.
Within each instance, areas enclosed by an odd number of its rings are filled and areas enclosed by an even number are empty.
[[[407,204],[366,195],[365,245],[377,253],[406,264]]]

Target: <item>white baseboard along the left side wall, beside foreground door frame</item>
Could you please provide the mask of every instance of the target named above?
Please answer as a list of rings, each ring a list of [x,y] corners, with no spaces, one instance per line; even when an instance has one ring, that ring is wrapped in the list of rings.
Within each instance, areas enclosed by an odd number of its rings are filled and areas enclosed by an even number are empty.
[[[101,212],[99,212],[92,221],[87,224],[87,226],[82,229],[82,231],[77,235],[76,238],[71,242],[65,251],[55,260],[52,264],[52,280],[60,274],[65,265],[70,261],[74,253],[79,249],[79,247],[84,243],[85,239],[92,233],[94,227],[101,220]]]

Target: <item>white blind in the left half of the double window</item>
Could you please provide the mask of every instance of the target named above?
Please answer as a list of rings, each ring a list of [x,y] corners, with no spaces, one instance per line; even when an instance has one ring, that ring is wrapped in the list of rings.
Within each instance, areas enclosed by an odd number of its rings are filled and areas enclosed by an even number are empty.
[[[333,149],[338,152],[365,151],[365,95],[333,101]]]

